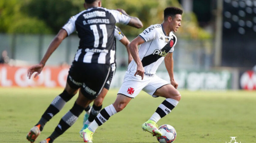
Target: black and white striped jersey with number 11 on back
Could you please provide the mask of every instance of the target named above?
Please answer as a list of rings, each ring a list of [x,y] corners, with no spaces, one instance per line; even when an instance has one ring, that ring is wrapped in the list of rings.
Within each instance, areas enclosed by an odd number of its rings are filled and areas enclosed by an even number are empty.
[[[72,16],[62,28],[80,38],[74,60],[85,63],[115,62],[114,29],[116,23],[128,24],[130,17],[107,8],[89,8]]]

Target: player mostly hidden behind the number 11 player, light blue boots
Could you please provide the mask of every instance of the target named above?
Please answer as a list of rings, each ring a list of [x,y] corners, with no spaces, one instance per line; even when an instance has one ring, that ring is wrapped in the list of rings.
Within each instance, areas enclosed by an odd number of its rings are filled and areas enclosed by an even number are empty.
[[[128,64],[129,64],[132,61],[131,52],[128,49],[128,44],[130,43],[130,41],[126,38],[126,36],[122,33],[121,29],[117,26],[115,26],[114,36],[115,36],[115,39],[114,39],[115,47],[116,47],[116,39],[119,40],[123,45],[125,45],[128,53]],[[101,111],[102,103],[103,103],[104,97],[108,93],[111,81],[115,74],[115,69],[116,69],[116,62],[111,65],[111,71],[108,75],[107,82],[105,83],[104,88],[102,89],[99,96],[94,100],[93,106],[91,107],[89,105],[85,108],[86,113],[84,114],[83,127],[79,132],[80,137],[82,138],[83,138],[82,131],[90,125],[90,123]]]

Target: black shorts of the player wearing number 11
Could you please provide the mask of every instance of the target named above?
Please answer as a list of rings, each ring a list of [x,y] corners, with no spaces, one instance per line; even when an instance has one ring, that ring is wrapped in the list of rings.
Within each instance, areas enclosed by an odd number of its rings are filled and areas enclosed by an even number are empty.
[[[95,99],[103,89],[110,65],[74,61],[69,69],[67,83],[73,89],[80,88],[88,99]]]

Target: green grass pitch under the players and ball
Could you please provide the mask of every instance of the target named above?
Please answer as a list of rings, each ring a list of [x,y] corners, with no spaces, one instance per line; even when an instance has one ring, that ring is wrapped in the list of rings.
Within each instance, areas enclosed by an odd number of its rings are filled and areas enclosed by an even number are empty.
[[[0,142],[27,142],[26,134],[40,119],[51,101],[62,88],[0,88]],[[117,90],[111,89],[103,107],[113,103]],[[170,124],[177,131],[176,143],[225,143],[230,137],[237,142],[256,142],[255,91],[180,91],[178,106],[158,125]],[[77,95],[50,120],[39,142],[55,129],[60,118],[73,106]],[[141,129],[164,98],[153,98],[141,92],[120,113],[112,116],[94,133],[94,142],[157,142]],[[77,122],[55,142],[83,142],[78,132],[82,126],[81,114]]]

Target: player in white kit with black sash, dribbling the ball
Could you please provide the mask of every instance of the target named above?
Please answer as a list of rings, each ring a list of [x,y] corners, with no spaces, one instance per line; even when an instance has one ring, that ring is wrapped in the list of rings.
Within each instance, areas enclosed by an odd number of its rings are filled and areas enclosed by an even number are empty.
[[[128,45],[134,60],[128,65],[117,98],[113,104],[102,109],[91,125],[84,129],[84,142],[92,142],[95,130],[110,116],[123,110],[142,90],[152,97],[166,98],[150,119],[142,124],[144,131],[150,132],[153,136],[161,136],[156,122],[170,113],[181,98],[177,91],[178,84],[173,76],[172,52],[177,43],[173,32],[175,33],[181,26],[182,13],[183,11],[176,7],[166,8],[162,24],[149,26]],[[141,45],[139,50],[138,45]],[[163,60],[169,73],[170,83],[155,75]]]

